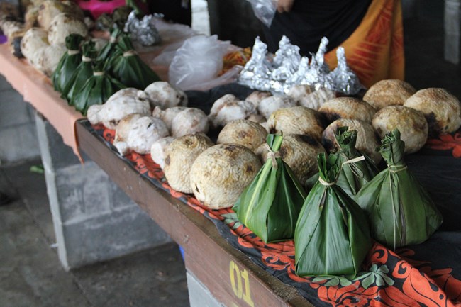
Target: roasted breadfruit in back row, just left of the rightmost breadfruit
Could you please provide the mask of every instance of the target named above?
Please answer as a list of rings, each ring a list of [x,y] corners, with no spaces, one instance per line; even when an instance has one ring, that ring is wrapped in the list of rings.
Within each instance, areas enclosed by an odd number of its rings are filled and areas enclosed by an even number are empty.
[[[406,99],[415,93],[416,89],[404,81],[381,80],[368,89],[363,100],[380,110],[387,106],[403,106]]]

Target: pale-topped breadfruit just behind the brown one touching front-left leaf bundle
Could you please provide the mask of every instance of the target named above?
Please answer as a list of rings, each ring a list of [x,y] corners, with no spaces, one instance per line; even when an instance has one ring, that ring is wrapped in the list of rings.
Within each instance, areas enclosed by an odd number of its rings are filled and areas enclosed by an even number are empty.
[[[305,106],[292,106],[281,108],[267,120],[270,133],[306,134],[321,140],[323,131],[323,118],[311,108]]]

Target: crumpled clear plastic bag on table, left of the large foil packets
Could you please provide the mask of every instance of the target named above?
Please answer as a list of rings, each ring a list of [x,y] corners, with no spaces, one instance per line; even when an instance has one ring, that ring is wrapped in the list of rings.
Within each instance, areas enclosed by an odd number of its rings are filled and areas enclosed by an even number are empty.
[[[171,62],[170,83],[186,91],[215,79],[223,69],[223,56],[229,45],[219,41],[217,35],[197,35],[185,40]]]

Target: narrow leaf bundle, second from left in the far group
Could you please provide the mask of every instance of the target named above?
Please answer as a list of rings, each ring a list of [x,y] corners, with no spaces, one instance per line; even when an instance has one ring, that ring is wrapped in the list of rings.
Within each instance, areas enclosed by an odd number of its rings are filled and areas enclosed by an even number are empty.
[[[93,75],[93,61],[96,58],[96,48],[94,42],[88,40],[82,45],[82,62],[77,66],[70,77],[69,82],[61,91],[61,97],[67,99],[68,104],[72,105],[73,97],[80,92],[83,84]]]

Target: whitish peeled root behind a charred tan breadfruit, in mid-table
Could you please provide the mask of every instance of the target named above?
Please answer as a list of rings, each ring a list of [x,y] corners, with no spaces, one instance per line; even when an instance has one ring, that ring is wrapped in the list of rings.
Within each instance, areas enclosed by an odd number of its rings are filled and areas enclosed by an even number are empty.
[[[213,127],[219,127],[230,121],[246,119],[256,113],[255,106],[251,102],[240,101],[233,94],[226,94],[213,103],[208,118]]]

